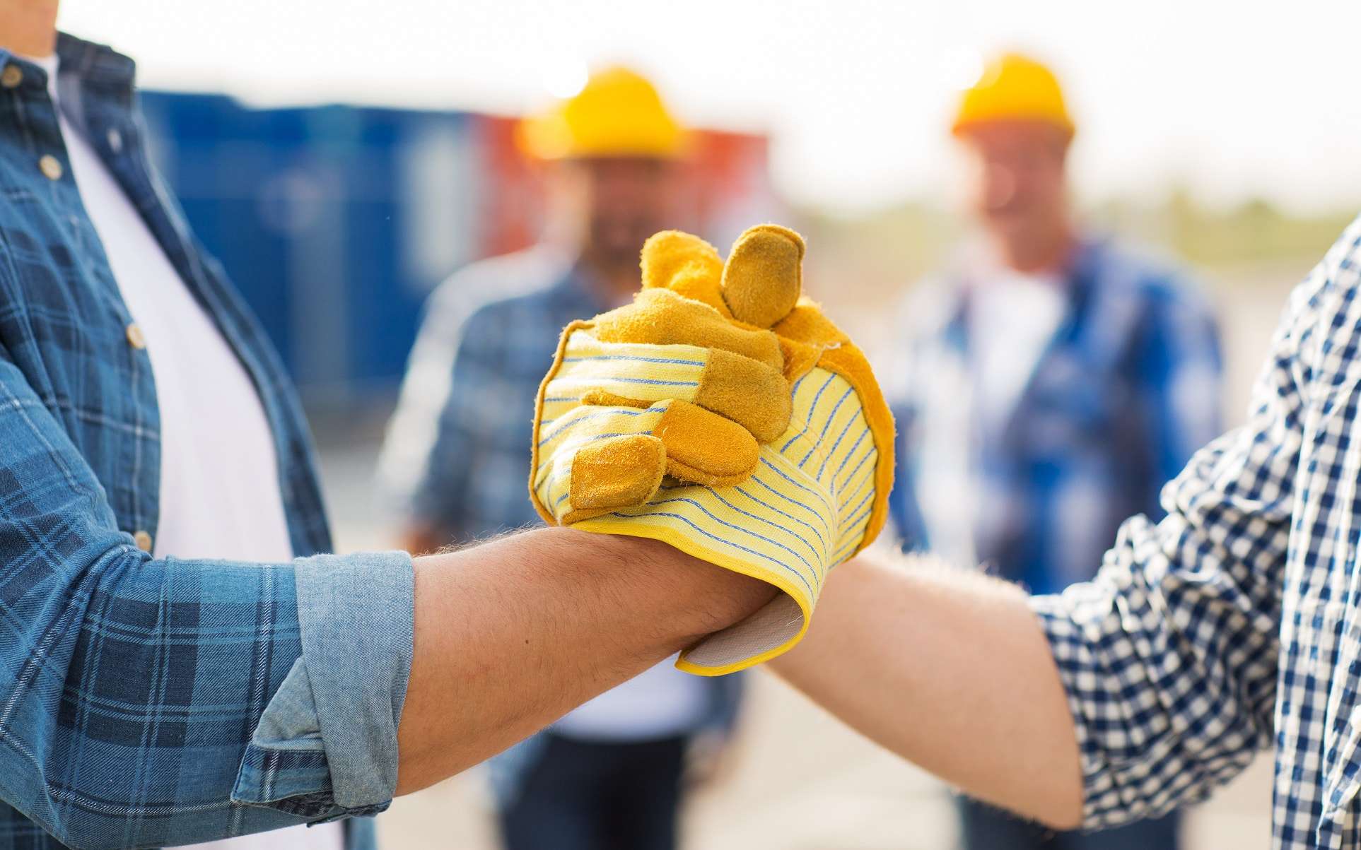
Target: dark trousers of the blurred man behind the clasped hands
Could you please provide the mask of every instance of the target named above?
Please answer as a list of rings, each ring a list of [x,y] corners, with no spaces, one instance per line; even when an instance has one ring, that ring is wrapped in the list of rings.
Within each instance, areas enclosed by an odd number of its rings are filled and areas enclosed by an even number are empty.
[[[686,741],[597,744],[550,732],[501,812],[506,850],[672,850]]]

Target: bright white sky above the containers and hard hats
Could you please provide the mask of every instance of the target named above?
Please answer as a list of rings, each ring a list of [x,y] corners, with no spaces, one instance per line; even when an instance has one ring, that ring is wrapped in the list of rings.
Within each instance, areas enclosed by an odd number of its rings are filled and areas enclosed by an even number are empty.
[[[689,121],[769,131],[777,186],[844,209],[947,196],[957,90],[1021,48],[1067,86],[1089,199],[1361,208],[1357,0],[67,0],[61,26],[144,86],[259,103],[514,113],[622,60]]]

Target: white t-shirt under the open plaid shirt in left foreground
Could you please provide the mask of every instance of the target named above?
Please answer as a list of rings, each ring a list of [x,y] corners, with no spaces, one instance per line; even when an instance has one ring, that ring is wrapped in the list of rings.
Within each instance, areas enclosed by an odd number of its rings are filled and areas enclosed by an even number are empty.
[[[161,409],[157,558],[286,562],[293,558],[274,438],[250,375],[90,143],[61,114],[57,57],[49,76],[80,200],[151,359]],[[289,827],[195,847],[342,850],[339,823]]]

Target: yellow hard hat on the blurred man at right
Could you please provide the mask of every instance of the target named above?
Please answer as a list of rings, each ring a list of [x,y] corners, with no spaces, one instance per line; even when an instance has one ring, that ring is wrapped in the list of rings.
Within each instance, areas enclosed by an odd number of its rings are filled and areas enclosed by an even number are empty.
[[[984,68],[983,76],[960,99],[950,132],[988,121],[1044,121],[1072,135],[1072,118],[1053,72],[1019,53],[1004,53]]]

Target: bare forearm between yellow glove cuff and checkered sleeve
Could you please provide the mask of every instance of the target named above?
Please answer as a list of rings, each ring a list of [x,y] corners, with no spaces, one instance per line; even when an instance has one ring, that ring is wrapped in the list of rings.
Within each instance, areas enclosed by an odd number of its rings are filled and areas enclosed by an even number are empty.
[[[1072,718],[1017,588],[930,560],[864,556],[832,573],[807,636],[772,666],[973,797],[1057,828],[1081,820]]]

